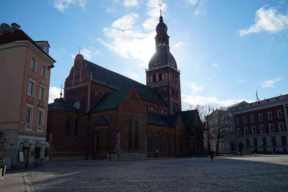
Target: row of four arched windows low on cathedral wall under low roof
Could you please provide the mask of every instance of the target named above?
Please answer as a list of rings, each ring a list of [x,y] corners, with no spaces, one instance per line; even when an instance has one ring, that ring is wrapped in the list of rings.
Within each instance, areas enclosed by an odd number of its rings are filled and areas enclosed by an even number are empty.
[[[175,152],[175,147],[174,147],[174,140],[173,136],[170,136],[170,147],[168,147],[168,137],[167,135],[164,135],[163,138],[163,152],[168,153],[168,152]],[[152,133],[148,135],[148,152],[162,152],[162,149],[160,148],[160,136],[157,133],[155,137],[155,143],[154,143],[154,136]]]

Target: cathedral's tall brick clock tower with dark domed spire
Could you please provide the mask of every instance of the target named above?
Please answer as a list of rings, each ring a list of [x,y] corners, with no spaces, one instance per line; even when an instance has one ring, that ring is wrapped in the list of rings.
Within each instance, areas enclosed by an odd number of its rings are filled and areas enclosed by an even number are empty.
[[[167,30],[167,25],[160,14],[156,27],[156,52],[149,61],[149,68],[146,69],[146,83],[162,95],[169,107],[169,114],[175,114],[181,111],[180,71],[170,53]]]

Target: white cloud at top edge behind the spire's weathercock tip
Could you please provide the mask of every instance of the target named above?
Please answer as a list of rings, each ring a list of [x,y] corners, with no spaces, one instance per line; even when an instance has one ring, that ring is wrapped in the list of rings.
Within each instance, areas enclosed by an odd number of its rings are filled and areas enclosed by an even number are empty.
[[[147,3],[148,6],[148,19],[143,23],[143,28],[145,30],[155,30],[158,22],[159,22],[159,3],[162,4],[161,10],[162,10],[162,16],[165,17],[165,12],[167,10],[167,4],[162,3],[161,1],[158,0],[149,0]]]

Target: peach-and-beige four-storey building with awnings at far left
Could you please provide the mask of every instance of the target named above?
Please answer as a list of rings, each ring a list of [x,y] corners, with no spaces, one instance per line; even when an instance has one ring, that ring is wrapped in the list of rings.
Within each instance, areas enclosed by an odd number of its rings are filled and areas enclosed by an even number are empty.
[[[8,168],[33,167],[45,159],[50,71],[56,62],[49,48],[16,23],[0,26],[0,131],[13,141],[5,153]]]

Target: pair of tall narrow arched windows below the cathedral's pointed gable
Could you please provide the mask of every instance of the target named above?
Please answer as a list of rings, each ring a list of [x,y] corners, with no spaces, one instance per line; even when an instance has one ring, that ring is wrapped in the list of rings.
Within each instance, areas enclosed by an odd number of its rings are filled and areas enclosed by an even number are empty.
[[[139,121],[129,120],[128,125],[128,150],[139,150]]]

